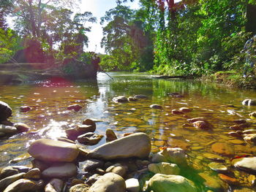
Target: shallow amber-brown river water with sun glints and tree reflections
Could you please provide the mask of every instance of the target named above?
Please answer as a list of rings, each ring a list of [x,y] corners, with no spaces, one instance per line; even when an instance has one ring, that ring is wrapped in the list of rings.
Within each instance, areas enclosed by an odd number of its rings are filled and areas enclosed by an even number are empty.
[[[10,120],[31,127],[29,132],[0,140],[0,166],[28,164],[29,160],[11,160],[26,157],[26,150],[35,139],[65,136],[65,129],[91,118],[98,120],[98,134],[104,135],[106,128],[113,128],[118,137],[124,133],[145,132],[151,137],[154,153],[159,147],[183,148],[187,151],[192,169],[207,174],[208,182],[214,183],[210,177],[214,180],[218,177],[218,173],[209,168],[211,158],[208,157],[211,154],[220,155],[224,159],[222,164],[230,170],[229,175],[238,180],[238,184],[231,188],[242,188],[241,191],[251,188],[253,191],[255,176],[234,169],[230,160],[239,155],[256,155],[256,147],[228,133],[233,131],[230,126],[236,124],[233,120],[238,119],[249,123],[244,129],[256,128],[256,121],[249,118],[249,113],[255,112],[256,107],[241,104],[244,99],[256,98],[255,91],[192,80],[159,80],[149,74],[110,73],[110,76],[113,79],[99,73],[97,81],[89,82],[56,80],[0,85],[0,100],[12,107]],[[168,93],[179,93],[183,97],[170,96]],[[144,94],[148,99],[124,104],[112,101],[115,96],[136,94]],[[79,112],[69,111],[67,106],[70,104],[80,104],[83,108]],[[151,104],[160,104],[163,108],[153,110],[149,107]],[[20,112],[20,106],[23,105],[30,106],[31,111]],[[192,112],[172,114],[172,110],[181,107],[188,107]],[[198,117],[206,118],[214,128],[200,130],[187,121]],[[232,154],[214,151],[212,145],[217,142],[230,145]],[[103,143],[105,137],[96,146]]]

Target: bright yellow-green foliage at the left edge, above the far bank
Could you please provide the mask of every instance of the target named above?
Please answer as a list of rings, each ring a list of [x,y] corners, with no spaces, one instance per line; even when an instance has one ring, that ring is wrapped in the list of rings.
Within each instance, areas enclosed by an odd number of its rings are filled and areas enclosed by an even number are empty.
[[[0,28],[0,64],[9,61],[21,47],[20,38],[15,34],[15,31],[8,28],[4,30]]]

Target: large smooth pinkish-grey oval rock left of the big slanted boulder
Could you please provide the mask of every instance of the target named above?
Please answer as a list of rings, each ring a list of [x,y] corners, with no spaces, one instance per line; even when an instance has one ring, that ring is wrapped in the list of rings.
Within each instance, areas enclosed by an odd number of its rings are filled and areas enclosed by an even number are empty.
[[[78,157],[78,147],[69,142],[60,142],[50,139],[38,139],[32,142],[29,154],[42,161],[72,162]]]

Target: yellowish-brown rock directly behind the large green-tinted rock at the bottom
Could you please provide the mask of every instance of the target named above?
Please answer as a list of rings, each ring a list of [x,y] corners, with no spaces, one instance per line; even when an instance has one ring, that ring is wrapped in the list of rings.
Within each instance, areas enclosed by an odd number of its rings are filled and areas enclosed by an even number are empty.
[[[170,164],[165,162],[161,162],[159,164],[149,164],[148,170],[150,172],[159,174],[179,174],[181,171],[176,164]]]

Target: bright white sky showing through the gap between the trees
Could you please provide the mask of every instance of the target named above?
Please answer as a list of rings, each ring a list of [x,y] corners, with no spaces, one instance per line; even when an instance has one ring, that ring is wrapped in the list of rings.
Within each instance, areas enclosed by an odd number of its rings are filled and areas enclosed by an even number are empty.
[[[85,48],[85,51],[94,51],[96,53],[105,53],[105,49],[100,47],[102,40],[102,26],[99,24],[100,18],[105,15],[105,12],[109,9],[116,7],[116,0],[81,0],[80,12],[91,12],[94,17],[97,18],[97,23],[93,23],[91,26],[91,32],[87,33],[89,37],[89,47]],[[129,2],[125,4],[131,9],[139,8],[139,0]]]

